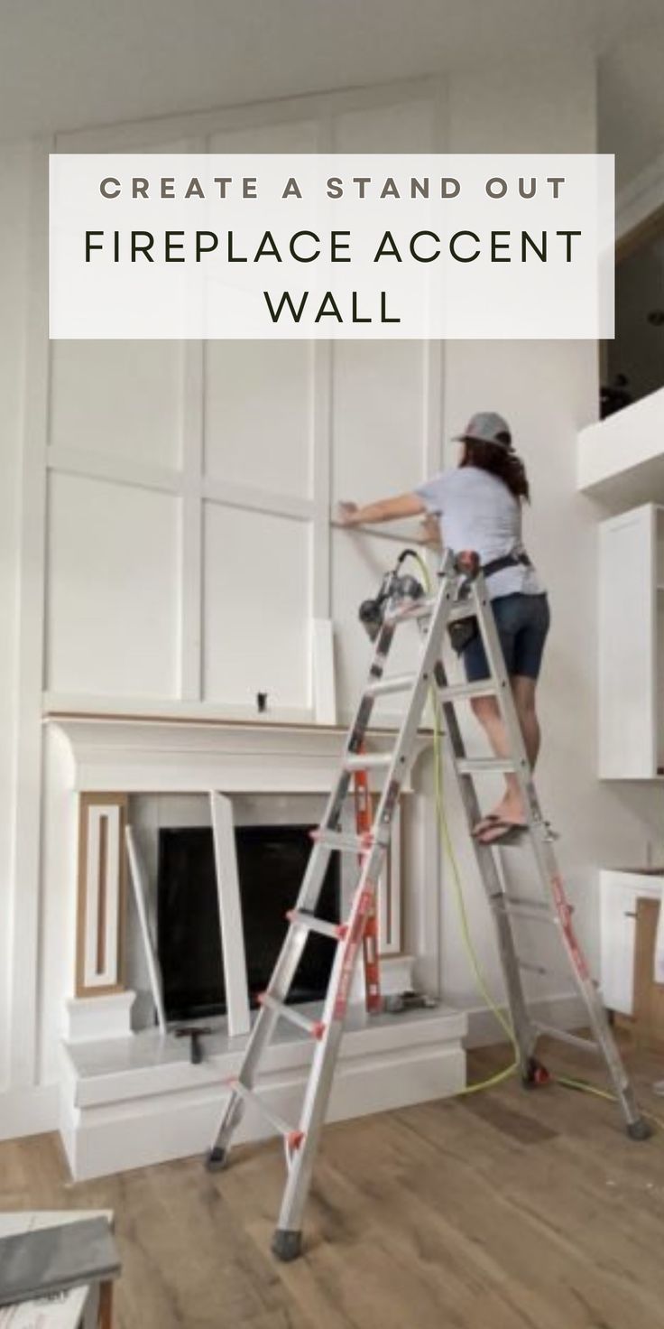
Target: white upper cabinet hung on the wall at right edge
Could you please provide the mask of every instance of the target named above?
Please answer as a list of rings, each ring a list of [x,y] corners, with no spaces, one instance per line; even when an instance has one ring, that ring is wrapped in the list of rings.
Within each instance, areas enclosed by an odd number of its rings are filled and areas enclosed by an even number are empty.
[[[599,773],[664,776],[664,506],[600,525]]]

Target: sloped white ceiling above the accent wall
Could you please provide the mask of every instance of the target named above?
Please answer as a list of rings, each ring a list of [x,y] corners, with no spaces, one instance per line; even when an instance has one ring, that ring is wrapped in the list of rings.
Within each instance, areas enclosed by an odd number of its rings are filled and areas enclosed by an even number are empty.
[[[661,0],[5,0],[0,137],[586,51],[612,52],[603,117],[627,162],[659,136],[664,41],[648,24],[663,11]],[[631,65],[622,52],[635,43]]]

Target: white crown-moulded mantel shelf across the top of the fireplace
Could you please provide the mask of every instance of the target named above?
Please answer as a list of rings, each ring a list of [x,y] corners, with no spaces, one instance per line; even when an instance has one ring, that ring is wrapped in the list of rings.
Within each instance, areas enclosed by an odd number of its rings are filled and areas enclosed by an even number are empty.
[[[106,715],[52,714],[46,723],[68,739],[73,789],[125,793],[324,793],[347,732],[336,726]],[[394,738],[393,730],[374,730],[372,747],[388,750]],[[426,731],[418,736],[410,780],[430,742]]]

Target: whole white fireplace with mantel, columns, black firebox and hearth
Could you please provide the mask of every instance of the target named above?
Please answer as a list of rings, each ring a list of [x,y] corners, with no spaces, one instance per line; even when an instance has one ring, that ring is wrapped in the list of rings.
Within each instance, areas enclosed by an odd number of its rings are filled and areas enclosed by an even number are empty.
[[[377,739],[382,747],[392,742],[390,734]],[[251,1025],[247,986],[252,995],[266,986],[283,936],[283,913],[293,902],[309,851],[307,831],[324,813],[343,744],[344,734],[332,727],[267,722],[61,716],[49,726],[45,833],[52,964],[45,970],[44,1007],[50,1022],[45,1027],[54,1030],[56,1021],[61,1022],[64,1034],[53,1074],[61,1086],[62,1140],[77,1180],[187,1158],[207,1148],[227,1100],[228,1078],[238,1075]],[[400,833],[392,841],[381,881],[378,937],[386,994],[413,986],[434,991],[437,983],[440,853],[433,773],[424,755],[428,746],[429,736],[421,735],[413,783],[406,787],[396,823]],[[76,800],[72,789],[78,795]],[[352,827],[349,800],[343,829]],[[134,878],[124,870],[125,828],[131,832],[142,867],[142,918]],[[280,852],[290,840],[288,853],[295,853],[295,843],[301,855],[288,880],[272,872],[266,844],[260,844],[266,839],[274,843],[270,837],[275,829]],[[199,860],[185,874],[178,869],[179,881],[174,853],[178,831],[194,832],[199,840]],[[159,860],[163,877],[167,853],[162,832],[173,832],[169,872],[174,889],[169,908],[179,904],[186,922],[195,917],[191,905],[195,902],[198,909],[198,896],[205,900],[207,889],[203,917],[211,921],[203,926],[201,949],[195,952],[186,934],[185,945],[177,948],[193,961],[197,982],[189,985],[189,991],[185,985],[179,991],[171,985],[165,944],[169,936],[173,942],[175,932],[167,921],[163,890],[158,917]],[[263,855],[254,882],[243,870],[250,849]],[[219,893],[214,859],[220,869]],[[345,918],[356,878],[355,855],[335,855],[332,861],[340,881],[325,884],[325,912],[339,917],[341,896]],[[226,952],[227,994],[219,957],[222,902],[227,920],[220,948]],[[259,921],[254,930],[250,904],[260,905],[260,912],[254,912]],[[171,1030],[162,1031],[154,1021],[150,961],[158,932],[171,1018],[179,1022],[193,1014],[212,1029],[202,1041],[203,1061],[197,1065],[191,1063],[189,1041],[177,1039]],[[125,945],[120,945],[121,940]],[[266,941],[271,946],[267,956],[262,949]],[[329,956],[327,938],[313,941]],[[56,950],[61,987],[52,973]],[[263,973],[255,971],[258,964]],[[78,978],[78,969],[81,983],[76,982],[73,993],[72,978]],[[205,983],[198,985],[201,975]],[[324,986],[320,971],[315,979],[301,971],[297,979],[305,997],[320,991],[319,982]],[[226,995],[228,1010],[222,1014]],[[463,1086],[465,1014],[440,1006],[369,1018],[361,965],[351,995],[331,1120],[446,1096]],[[219,1014],[203,1014],[210,1009]],[[301,1009],[313,1015],[316,1003],[304,999]],[[50,1042],[54,1039],[53,1034]],[[45,1041],[45,1053],[49,1046]],[[284,1120],[299,1115],[312,1051],[311,1039],[300,1038],[284,1021],[278,1022],[260,1092]],[[267,1132],[263,1114],[248,1103],[238,1139],[262,1139]]]

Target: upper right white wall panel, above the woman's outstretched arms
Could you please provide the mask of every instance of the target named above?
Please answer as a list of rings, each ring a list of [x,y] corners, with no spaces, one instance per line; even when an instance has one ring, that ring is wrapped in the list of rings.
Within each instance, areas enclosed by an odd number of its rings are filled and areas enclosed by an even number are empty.
[[[425,409],[421,342],[335,343],[333,500],[413,489],[424,478]]]

